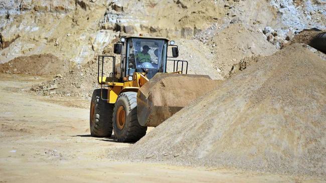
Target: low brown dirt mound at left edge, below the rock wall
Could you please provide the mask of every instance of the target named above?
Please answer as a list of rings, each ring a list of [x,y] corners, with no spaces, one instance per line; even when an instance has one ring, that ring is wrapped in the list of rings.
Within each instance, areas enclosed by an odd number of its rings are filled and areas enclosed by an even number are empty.
[[[69,64],[53,54],[21,56],[0,64],[0,72],[48,75],[68,71]]]

